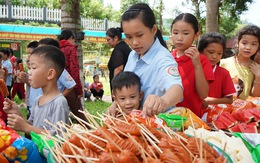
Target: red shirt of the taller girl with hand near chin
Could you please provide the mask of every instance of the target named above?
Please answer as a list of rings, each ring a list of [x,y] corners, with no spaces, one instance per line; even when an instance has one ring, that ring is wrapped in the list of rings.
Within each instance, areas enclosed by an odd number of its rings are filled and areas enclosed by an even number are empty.
[[[198,117],[201,117],[202,112],[202,100],[200,99],[195,85],[195,69],[192,60],[183,55],[179,58],[176,56],[177,50],[174,49],[172,56],[178,63],[178,70],[182,78],[183,85],[183,101],[178,103],[176,106],[182,106],[189,108]],[[214,81],[214,74],[212,71],[211,64],[207,57],[200,55],[200,62],[204,71],[205,79],[208,82]]]

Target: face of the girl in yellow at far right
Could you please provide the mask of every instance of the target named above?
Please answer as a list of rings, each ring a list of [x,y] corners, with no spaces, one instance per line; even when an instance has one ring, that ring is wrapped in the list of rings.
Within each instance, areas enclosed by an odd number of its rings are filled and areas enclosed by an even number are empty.
[[[244,58],[250,58],[254,55],[259,47],[259,41],[256,36],[243,35],[238,42],[238,54]]]

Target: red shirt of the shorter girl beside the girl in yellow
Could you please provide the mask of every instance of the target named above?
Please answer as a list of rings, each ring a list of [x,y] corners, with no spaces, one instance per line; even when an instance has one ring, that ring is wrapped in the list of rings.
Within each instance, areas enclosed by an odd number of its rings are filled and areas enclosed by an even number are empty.
[[[215,80],[209,84],[209,97],[222,98],[236,93],[229,72],[218,66],[213,66]]]

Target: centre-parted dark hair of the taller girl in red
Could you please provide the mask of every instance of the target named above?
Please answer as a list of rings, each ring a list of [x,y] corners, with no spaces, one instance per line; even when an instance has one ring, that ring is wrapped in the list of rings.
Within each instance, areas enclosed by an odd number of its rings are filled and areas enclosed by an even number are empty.
[[[171,30],[172,30],[173,24],[175,24],[176,22],[178,22],[180,20],[190,24],[192,26],[192,28],[194,29],[195,34],[199,31],[198,20],[194,15],[192,15],[190,13],[182,13],[182,14],[178,15],[172,22]]]

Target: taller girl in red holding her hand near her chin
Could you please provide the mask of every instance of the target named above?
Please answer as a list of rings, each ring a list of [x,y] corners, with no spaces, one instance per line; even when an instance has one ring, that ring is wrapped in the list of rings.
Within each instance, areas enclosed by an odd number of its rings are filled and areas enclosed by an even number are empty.
[[[184,88],[184,99],[177,106],[189,108],[201,117],[202,101],[208,96],[208,83],[214,80],[214,74],[209,60],[192,45],[199,35],[198,21],[194,15],[182,13],[173,20],[171,38],[175,49],[172,56],[178,63]]]

